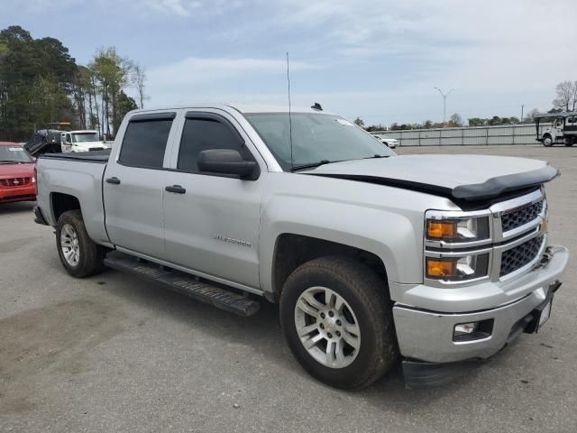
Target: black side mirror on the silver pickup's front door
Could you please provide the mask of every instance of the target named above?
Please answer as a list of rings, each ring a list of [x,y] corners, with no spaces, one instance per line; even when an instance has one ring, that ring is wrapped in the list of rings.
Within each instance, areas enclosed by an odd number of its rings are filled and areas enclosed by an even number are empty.
[[[255,161],[245,161],[238,151],[232,149],[211,149],[198,154],[198,170],[236,175],[241,179],[256,180],[259,165]]]

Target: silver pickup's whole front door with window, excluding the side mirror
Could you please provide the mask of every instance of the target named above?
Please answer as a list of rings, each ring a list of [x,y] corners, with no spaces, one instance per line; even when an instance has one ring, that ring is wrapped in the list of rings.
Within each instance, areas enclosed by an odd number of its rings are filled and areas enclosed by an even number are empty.
[[[219,110],[184,116],[182,135],[175,139],[173,170],[166,179],[167,187],[180,189],[163,195],[166,254],[171,263],[258,288],[261,195],[267,172],[234,122]],[[209,149],[234,150],[244,160],[257,161],[260,177],[240,180],[200,173],[198,154]]]

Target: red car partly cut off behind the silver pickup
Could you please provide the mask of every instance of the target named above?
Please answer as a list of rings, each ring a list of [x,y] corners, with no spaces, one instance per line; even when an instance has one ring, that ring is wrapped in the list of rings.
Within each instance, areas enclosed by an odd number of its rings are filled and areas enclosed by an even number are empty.
[[[36,199],[34,166],[21,144],[0,142],[0,203]]]

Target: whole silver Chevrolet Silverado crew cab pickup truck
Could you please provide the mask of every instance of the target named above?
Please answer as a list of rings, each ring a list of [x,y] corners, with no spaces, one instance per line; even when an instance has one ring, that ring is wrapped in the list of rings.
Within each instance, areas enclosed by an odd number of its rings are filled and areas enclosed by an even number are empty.
[[[399,357],[409,387],[438,384],[537,332],[569,255],[547,242],[558,171],[398,156],[319,108],[133,111],[111,151],[39,159],[36,221],[74,277],[105,265],[243,316],[279,303],[335,387]]]

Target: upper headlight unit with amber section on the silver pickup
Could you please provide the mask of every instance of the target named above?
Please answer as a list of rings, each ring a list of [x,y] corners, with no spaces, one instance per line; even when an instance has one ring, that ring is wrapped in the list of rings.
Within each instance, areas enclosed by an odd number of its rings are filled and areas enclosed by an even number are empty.
[[[489,239],[489,217],[427,219],[426,239],[455,244]]]

